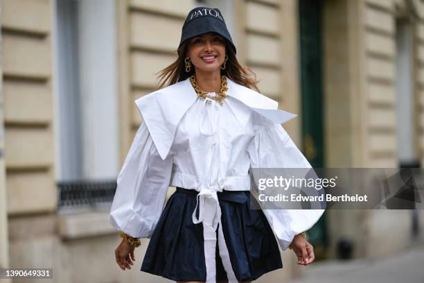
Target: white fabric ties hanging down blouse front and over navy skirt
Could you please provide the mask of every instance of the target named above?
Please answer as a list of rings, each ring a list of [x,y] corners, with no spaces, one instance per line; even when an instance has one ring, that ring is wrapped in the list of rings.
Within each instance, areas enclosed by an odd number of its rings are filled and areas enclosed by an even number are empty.
[[[219,141],[218,131],[216,130],[216,123],[219,115],[216,113],[217,108],[220,107],[216,102],[210,98],[206,98],[204,103],[206,105],[206,115],[202,115],[200,120],[199,130],[203,135],[213,135],[213,153],[211,162],[209,162],[208,169],[204,174],[200,185],[200,192],[197,194],[196,207],[193,212],[193,223],[203,224],[203,237],[204,237],[204,260],[206,264],[206,283],[216,282],[216,259],[215,259],[215,248],[216,248],[216,229],[218,228],[218,248],[220,257],[222,260],[222,266],[224,266],[225,272],[229,283],[238,283],[236,275],[234,275],[233,267],[229,259],[229,252],[227,244],[225,243],[224,233],[222,232],[221,224],[221,208],[218,200],[217,191],[222,191],[224,188],[224,182],[220,182],[219,178]],[[211,104],[215,105],[213,107]],[[215,121],[212,119],[212,111],[215,112]],[[209,126],[209,130],[205,130],[205,126]],[[218,157],[218,160],[217,160]],[[218,168],[218,178],[216,184],[211,184],[212,178],[210,178],[211,169]],[[220,184],[218,184],[220,183]],[[197,205],[199,206],[199,217],[196,217]]]

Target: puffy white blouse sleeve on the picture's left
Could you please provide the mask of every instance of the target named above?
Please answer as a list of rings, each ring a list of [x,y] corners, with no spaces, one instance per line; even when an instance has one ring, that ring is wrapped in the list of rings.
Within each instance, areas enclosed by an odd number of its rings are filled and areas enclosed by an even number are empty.
[[[116,180],[109,222],[132,237],[150,238],[170,183],[173,158],[162,160],[142,123]]]

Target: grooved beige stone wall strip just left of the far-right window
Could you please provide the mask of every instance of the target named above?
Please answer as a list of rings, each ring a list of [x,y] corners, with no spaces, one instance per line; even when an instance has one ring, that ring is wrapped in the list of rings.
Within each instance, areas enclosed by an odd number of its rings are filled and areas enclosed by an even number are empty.
[[[396,26],[393,1],[364,1],[364,144],[371,167],[396,167]]]

